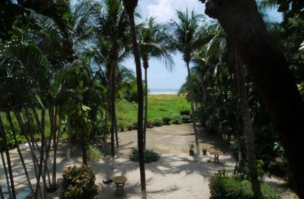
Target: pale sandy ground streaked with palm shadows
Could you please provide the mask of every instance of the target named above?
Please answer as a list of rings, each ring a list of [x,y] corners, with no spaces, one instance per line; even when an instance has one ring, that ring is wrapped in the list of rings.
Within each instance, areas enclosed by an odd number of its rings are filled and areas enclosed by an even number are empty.
[[[208,145],[208,148],[228,151],[228,145],[218,136],[210,135],[204,131],[201,131],[199,135],[200,143]],[[124,185],[124,198],[140,198],[139,164],[138,162],[131,162],[128,157],[130,149],[137,144],[137,131],[119,132],[119,140],[122,157],[116,159],[114,169],[111,165],[110,156],[105,156],[100,162],[89,162],[89,166],[94,168],[96,184],[100,190],[98,198],[121,198],[120,193],[116,195],[114,183],[107,185],[102,183],[102,180],[107,179],[107,171],[110,178],[120,175],[128,177],[128,182]],[[209,163],[209,159],[213,161],[213,155],[210,155],[209,152],[208,155],[199,157],[188,155],[188,143],[194,143],[191,124],[172,124],[147,129],[147,148],[153,148],[156,152],[163,154],[158,162],[145,164],[149,198],[209,198],[208,178],[218,169],[221,169],[224,163],[230,171],[234,168],[235,159],[230,152],[220,156],[219,163]],[[68,166],[80,166],[82,163],[80,146],[73,146],[70,160],[65,160],[65,143],[60,144],[59,147],[57,159],[58,191],[49,194],[50,198],[60,196],[59,190],[63,170]],[[27,182],[16,149],[11,150],[10,154],[14,181],[17,193],[19,193],[27,187]],[[23,152],[23,155],[31,176],[31,182],[34,184],[36,179],[33,174],[34,169],[31,166],[30,152]],[[50,155],[52,157],[52,152]],[[0,165],[0,183],[5,185],[2,162]],[[52,168],[51,163],[48,166],[50,169]],[[281,179],[272,177],[271,179],[265,178],[265,181],[275,186],[277,190],[282,191],[278,187],[278,183],[282,182]],[[283,193],[283,198],[292,197]]]

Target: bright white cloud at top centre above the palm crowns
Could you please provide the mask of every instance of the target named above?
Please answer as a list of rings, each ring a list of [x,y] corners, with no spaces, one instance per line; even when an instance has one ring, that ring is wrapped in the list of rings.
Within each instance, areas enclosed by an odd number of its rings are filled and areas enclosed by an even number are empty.
[[[156,0],[156,4],[149,5],[149,16],[158,16],[157,20],[160,22],[168,21],[169,19],[175,19],[175,10],[197,10],[198,6],[201,6],[201,2],[198,0]]]

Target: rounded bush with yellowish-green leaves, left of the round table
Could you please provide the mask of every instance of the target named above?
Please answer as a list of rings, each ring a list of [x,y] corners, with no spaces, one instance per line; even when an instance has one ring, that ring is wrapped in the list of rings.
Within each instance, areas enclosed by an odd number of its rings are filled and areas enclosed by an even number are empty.
[[[92,168],[82,165],[68,167],[63,171],[61,199],[87,198],[93,199],[98,194]]]

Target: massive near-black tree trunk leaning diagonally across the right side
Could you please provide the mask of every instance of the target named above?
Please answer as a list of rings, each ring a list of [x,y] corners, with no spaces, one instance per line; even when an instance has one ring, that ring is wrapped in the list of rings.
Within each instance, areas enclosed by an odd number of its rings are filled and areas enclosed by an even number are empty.
[[[211,0],[205,13],[218,19],[239,50],[284,147],[299,197],[304,198],[304,172],[298,158],[304,152],[304,102],[284,55],[267,32],[256,1]]]

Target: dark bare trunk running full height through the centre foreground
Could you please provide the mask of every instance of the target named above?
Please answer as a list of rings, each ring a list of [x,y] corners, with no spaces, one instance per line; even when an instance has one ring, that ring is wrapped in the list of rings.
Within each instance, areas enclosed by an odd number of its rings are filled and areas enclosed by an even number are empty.
[[[136,82],[138,92],[138,114],[137,114],[137,139],[138,139],[138,156],[139,156],[139,170],[140,170],[140,181],[141,181],[141,192],[142,199],[147,198],[146,192],[146,176],[145,176],[145,160],[144,160],[144,145],[143,145],[143,88],[142,88],[142,68],[140,64],[140,56],[138,51],[138,43],[135,34],[135,22],[134,22],[134,11],[137,6],[138,0],[124,0],[124,6],[128,12],[129,23],[131,28],[131,40],[133,44],[133,54],[136,65]]]

